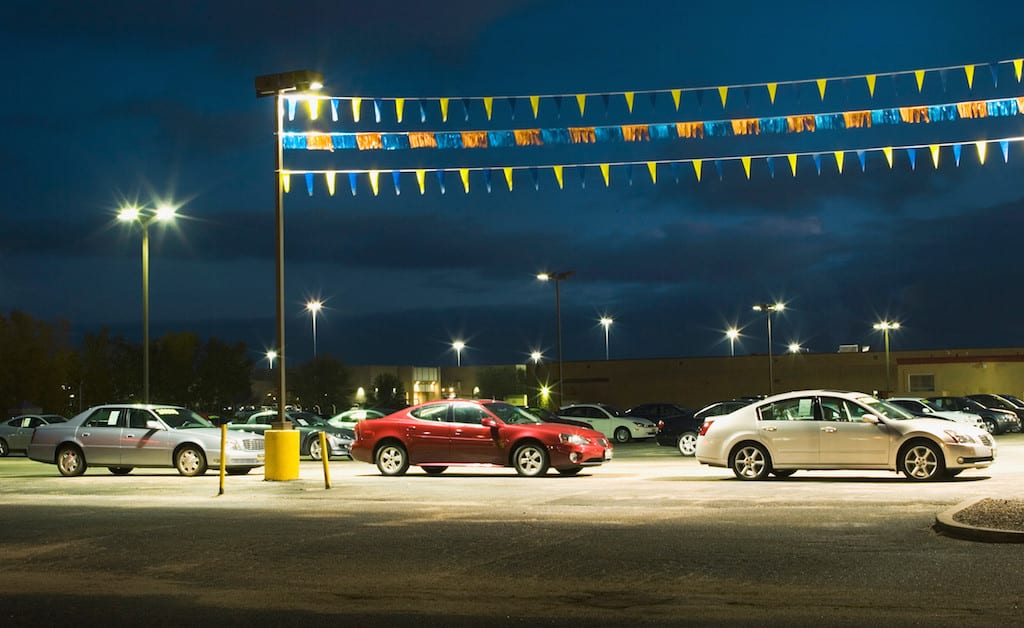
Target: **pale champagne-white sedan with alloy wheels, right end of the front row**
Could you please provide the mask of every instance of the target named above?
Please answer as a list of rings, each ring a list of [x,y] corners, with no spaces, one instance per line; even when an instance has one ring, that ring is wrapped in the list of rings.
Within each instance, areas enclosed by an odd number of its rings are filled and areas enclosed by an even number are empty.
[[[995,441],[983,429],[918,418],[863,392],[796,390],[705,421],[696,458],[740,479],[787,477],[797,469],[888,469],[930,480],[989,466]]]

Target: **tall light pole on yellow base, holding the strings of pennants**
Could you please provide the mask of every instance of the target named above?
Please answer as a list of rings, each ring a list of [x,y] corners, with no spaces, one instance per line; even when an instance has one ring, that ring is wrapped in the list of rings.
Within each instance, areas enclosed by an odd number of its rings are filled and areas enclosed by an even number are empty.
[[[274,115],[276,116],[276,132],[274,134],[274,187],[276,191],[274,204],[276,234],[276,291],[278,291],[278,357],[281,363],[278,368],[278,422],[270,425],[273,429],[291,429],[292,424],[285,415],[287,403],[285,388],[285,199],[282,176],[284,176],[284,145],[282,137],[285,132],[285,98],[288,92],[319,89],[324,86],[324,75],[309,70],[297,70],[281,74],[267,74],[256,77],[254,81],[256,97],[273,96]],[[266,462],[269,463],[272,454],[266,451]]]

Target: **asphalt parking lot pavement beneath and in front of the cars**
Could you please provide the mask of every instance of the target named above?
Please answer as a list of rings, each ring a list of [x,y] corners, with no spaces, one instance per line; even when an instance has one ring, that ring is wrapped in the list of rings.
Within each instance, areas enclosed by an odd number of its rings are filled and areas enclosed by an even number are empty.
[[[1024,435],[916,484],[800,471],[742,483],[629,444],[577,477],[332,461],[265,482],[173,470],[66,478],[0,459],[2,618],[201,625],[895,625],[1019,622],[1024,546],[935,515],[1024,498]],[[112,615],[113,614],[113,615]]]

